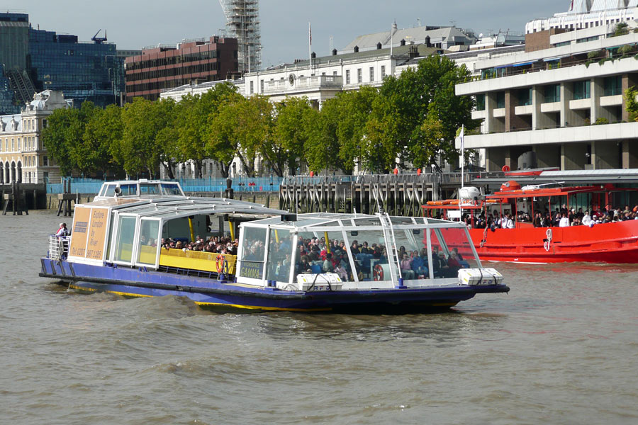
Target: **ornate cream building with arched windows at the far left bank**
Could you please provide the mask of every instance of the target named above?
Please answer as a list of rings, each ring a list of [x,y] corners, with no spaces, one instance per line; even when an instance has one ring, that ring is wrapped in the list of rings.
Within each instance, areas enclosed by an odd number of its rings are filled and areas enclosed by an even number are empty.
[[[47,154],[40,134],[47,118],[70,103],[61,91],[35,94],[18,115],[0,115],[0,183],[47,183],[60,179],[60,168]]]

